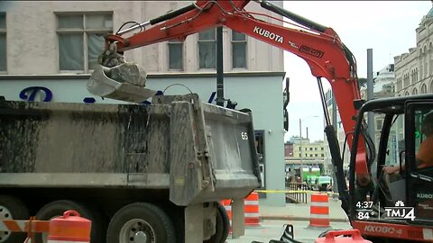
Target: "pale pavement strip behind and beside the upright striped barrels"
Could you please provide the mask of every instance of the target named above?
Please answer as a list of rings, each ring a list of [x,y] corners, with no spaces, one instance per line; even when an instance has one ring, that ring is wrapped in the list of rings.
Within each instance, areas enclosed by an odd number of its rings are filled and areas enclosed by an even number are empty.
[[[329,197],[329,220],[349,221],[338,199]],[[261,220],[309,220],[310,203],[286,203],[285,207],[259,205]]]

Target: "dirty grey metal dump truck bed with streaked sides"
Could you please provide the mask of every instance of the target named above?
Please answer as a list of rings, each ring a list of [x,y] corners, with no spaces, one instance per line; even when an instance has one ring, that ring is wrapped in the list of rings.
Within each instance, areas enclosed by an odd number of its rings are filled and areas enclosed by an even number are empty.
[[[260,186],[250,114],[197,94],[152,104],[0,102],[0,188],[170,190],[177,205]]]

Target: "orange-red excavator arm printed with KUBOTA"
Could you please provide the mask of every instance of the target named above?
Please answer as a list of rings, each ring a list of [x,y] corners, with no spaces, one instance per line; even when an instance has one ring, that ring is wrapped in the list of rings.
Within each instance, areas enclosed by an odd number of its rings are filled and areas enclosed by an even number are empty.
[[[185,40],[189,34],[226,26],[303,58],[308,63],[313,76],[325,77],[329,81],[345,133],[353,132],[357,113],[354,101],[361,99],[355,58],[339,39],[336,31],[292,14],[269,2],[258,1],[264,8],[299,23],[295,25],[299,29],[267,23],[253,17],[257,13],[244,10],[244,6],[249,2],[248,0],[197,1],[195,4],[165,14],[150,22],[137,24],[136,28],[106,36],[106,48],[115,44],[117,52],[123,53],[128,49],[136,49],[165,40]],[[122,37],[127,31],[143,29],[147,26],[149,28],[130,37]],[[349,148],[352,148],[353,137],[347,136],[347,142]],[[355,166],[357,178],[369,178],[365,150],[364,139],[361,139],[358,144]]]

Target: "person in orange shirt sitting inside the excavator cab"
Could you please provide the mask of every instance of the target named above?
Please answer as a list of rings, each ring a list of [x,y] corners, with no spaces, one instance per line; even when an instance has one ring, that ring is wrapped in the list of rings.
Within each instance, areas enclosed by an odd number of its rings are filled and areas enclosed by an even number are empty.
[[[433,166],[433,112],[429,112],[421,124],[421,132],[426,135],[426,138],[419,144],[418,153],[416,155],[416,164],[418,169],[423,169]],[[405,165],[400,166],[384,166],[383,172],[387,175],[400,172],[405,169]]]

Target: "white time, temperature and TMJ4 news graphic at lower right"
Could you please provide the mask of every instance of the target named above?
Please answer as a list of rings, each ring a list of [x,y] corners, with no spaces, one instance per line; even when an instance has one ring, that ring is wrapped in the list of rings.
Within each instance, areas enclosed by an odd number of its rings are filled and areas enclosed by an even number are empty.
[[[384,207],[381,211],[380,205],[373,210],[373,202],[356,202],[356,219],[368,220],[371,217],[386,220],[415,220],[413,207],[406,207],[404,202],[395,202],[394,207]]]

